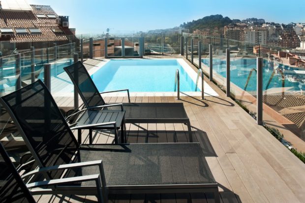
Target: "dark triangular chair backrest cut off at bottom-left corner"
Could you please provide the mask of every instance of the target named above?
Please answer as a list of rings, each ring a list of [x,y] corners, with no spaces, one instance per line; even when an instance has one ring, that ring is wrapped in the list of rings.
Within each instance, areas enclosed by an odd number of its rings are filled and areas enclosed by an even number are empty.
[[[1,143],[0,169],[0,203],[35,202]]]

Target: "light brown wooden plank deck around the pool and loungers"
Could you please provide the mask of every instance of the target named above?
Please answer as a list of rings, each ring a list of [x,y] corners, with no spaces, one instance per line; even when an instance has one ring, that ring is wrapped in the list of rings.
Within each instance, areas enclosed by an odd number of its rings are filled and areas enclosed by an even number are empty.
[[[99,59],[84,62],[88,69]],[[189,63],[189,62],[188,62]],[[134,96],[131,102],[183,102],[191,121],[193,140],[199,142],[219,185],[222,203],[301,203],[305,200],[305,164],[255,124],[239,105],[208,80],[218,96]],[[61,107],[73,106],[72,97],[57,97]],[[106,102],[128,102],[106,97]],[[83,140],[88,142],[87,133]],[[95,132],[93,143],[111,143],[109,131]],[[188,142],[183,124],[128,124],[128,143]],[[44,202],[96,202],[92,196],[35,196]],[[109,203],[210,203],[211,194],[112,195]]]

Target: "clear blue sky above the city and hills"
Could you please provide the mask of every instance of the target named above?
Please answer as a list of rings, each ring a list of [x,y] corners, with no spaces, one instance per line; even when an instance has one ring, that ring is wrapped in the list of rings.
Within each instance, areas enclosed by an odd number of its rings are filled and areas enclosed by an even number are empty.
[[[27,0],[68,15],[80,33],[147,31],[221,14],[231,19],[263,18],[275,23],[305,23],[305,0]]]

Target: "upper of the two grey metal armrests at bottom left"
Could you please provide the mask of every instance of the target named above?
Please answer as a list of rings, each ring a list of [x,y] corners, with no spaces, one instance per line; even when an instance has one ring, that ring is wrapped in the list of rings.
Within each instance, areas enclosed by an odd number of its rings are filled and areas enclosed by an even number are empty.
[[[50,166],[50,167],[36,169],[27,174],[23,174],[21,177],[24,178],[29,175],[34,175],[34,174],[54,171],[54,170],[75,169],[75,168],[90,167],[90,166],[99,166],[100,167],[102,165],[103,165],[102,160],[87,161],[87,162],[80,162],[80,163],[73,163],[73,164],[62,164],[62,165],[58,165],[58,166]]]

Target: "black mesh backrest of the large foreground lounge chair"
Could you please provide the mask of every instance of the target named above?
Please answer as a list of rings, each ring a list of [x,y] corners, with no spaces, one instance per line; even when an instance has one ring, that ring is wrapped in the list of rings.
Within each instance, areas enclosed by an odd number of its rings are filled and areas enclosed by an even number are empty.
[[[47,87],[38,80],[2,97],[43,167],[68,164],[78,143]],[[52,178],[60,173],[52,172]]]

